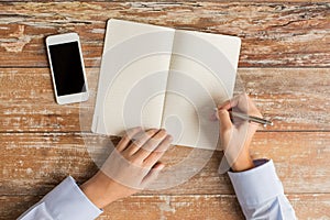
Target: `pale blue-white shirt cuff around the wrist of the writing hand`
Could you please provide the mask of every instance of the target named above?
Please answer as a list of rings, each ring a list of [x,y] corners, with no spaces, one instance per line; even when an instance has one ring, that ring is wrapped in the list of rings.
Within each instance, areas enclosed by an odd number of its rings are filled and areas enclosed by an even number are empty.
[[[255,206],[284,194],[273,161],[258,160],[254,164],[256,167],[245,172],[228,172],[239,202],[243,206]]]

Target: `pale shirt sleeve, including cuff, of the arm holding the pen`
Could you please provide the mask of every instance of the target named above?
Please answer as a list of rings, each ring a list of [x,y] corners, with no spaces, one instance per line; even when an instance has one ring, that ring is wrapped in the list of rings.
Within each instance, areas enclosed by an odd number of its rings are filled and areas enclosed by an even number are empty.
[[[252,169],[228,173],[245,218],[296,219],[295,211],[284,195],[273,161],[257,160],[254,164],[256,167]]]

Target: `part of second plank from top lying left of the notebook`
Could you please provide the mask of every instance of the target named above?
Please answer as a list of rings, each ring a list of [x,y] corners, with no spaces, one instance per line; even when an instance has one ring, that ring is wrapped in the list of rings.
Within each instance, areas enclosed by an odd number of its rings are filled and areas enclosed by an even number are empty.
[[[0,131],[90,131],[99,70],[88,69],[91,90],[88,103],[59,106],[55,102],[48,69],[0,70]],[[80,128],[79,112],[88,116],[88,127]],[[81,124],[82,125],[82,124]]]

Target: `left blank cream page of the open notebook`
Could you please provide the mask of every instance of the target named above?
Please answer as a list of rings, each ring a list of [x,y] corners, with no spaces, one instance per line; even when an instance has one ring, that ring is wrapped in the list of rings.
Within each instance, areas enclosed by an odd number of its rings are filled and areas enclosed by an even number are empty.
[[[174,30],[109,20],[92,131],[160,128]]]

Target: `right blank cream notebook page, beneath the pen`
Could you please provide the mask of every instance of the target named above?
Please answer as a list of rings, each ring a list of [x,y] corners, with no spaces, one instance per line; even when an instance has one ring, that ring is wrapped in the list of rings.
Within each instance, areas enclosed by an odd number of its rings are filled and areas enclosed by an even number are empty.
[[[175,32],[162,127],[176,144],[217,146],[219,125],[210,117],[232,97],[240,43],[233,36]]]

